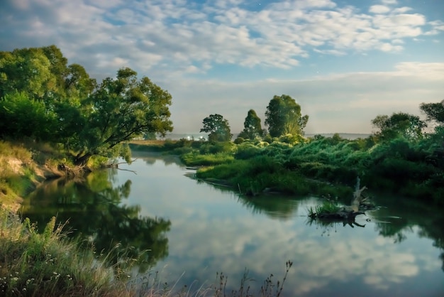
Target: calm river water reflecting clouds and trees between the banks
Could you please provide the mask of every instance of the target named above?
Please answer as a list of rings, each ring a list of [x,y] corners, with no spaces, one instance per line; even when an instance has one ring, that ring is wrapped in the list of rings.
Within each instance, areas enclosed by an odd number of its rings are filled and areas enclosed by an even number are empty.
[[[379,198],[379,210],[357,217],[365,227],[319,225],[306,217],[316,198],[246,200],[189,178],[176,158],[133,156],[121,170],[43,185],[23,215],[40,225],[69,219],[66,228],[97,250],[150,249],[140,271],[152,266],[160,281],[191,291],[215,284],[216,272],[237,289],[248,269],[256,292],[270,274],[282,280],[291,260],[283,296],[444,296],[442,211]]]

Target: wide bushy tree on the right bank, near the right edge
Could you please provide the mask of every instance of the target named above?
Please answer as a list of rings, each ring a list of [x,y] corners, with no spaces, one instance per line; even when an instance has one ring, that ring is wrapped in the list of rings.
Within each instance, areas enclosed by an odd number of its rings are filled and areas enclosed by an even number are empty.
[[[392,116],[378,115],[372,124],[379,129],[374,135],[380,140],[391,140],[403,136],[409,140],[421,139],[422,130],[427,125],[418,116],[397,112]]]

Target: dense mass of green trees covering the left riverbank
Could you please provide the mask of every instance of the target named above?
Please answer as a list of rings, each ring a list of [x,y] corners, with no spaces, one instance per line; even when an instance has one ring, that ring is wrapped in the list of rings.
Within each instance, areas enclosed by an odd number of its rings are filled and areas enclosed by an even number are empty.
[[[171,100],[130,68],[97,85],[55,45],[0,52],[0,136],[65,144],[79,165],[94,155],[128,160],[124,141],[172,131]]]

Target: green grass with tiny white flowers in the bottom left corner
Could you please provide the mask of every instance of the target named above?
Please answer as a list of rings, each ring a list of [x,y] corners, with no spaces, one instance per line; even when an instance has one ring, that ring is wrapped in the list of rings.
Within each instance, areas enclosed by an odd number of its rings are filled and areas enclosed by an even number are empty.
[[[55,217],[40,234],[28,219],[22,223],[0,210],[0,295],[128,296],[115,269],[91,250],[79,249],[61,230]]]

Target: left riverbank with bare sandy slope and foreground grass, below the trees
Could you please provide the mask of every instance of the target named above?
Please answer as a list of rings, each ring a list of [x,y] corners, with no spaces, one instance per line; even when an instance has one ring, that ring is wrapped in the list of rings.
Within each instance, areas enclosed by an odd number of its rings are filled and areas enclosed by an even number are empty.
[[[46,179],[66,174],[58,164],[67,160],[57,151],[3,141],[0,161],[4,165],[0,171],[1,296],[222,296],[223,283],[197,291],[174,286],[173,290],[165,280],[160,283],[157,278],[133,275],[134,257],[119,254],[117,261],[110,261],[112,251],[99,251],[92,242],[70,239],[55,217],[38,226],[20,217],[21,197]],[[287,272],[289,266],[291,262],[287,262]],[[264,291],[261,296],[274,294]]]

